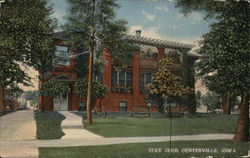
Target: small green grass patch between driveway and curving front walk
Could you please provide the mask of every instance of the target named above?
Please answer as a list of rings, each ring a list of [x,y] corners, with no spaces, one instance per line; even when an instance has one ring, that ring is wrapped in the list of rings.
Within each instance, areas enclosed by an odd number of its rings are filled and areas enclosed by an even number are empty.
[[[60,139],[64,135],[61,129],[64,119],[65,117],[57,112],[35,113],[37,139]]]

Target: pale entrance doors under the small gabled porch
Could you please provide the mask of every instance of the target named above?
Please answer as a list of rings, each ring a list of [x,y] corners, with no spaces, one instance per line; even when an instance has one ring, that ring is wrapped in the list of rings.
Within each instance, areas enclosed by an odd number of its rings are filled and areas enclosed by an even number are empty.
[[[68,110],[68,93],[60,94],[53,98],[54,111]]]

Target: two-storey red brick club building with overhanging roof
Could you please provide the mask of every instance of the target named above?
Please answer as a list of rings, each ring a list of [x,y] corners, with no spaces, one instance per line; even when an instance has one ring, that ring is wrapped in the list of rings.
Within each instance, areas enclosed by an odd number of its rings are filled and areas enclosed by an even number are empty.
[[[172,55],[174,53],[176,61],[172,67],[175,73],[181,75],[183,66],[187,72],[194,72],[193,67],[185,67],[182,64],[183,60],[197,59],[197,54],[189,53],[194,45],[141,37],[140,31],[137,31],[136,36],[126,35],[125,38],[138,44],[142,51],[136,52],[131,62],[123,69],[118,69],[113,66],[110,53],[103,50],[105,64],[101,81],[108,87],[109,92],[102,100],[102,105],[107,111],[131,111],[133,106],[154,106],[152,103],[145,102],[143,88],[152,81],[152,74],[157,70],[159,60],[171,53]],[[56,54],[62,53],[68,60],[62,61],[61,66],[51,72],[50,78],[69,84],[71,92],[54,98],[40,96],[39,108],[45,111],[79,110],[85,103],[74,91],[73,85],[78,76],[75,70],[75,59],[69,56],[70,45],[64,43],[63,32],[55,33],[53,40],[57,48]],[[87,62],[87,60],[83,62]],[[189,77],[194,78],[194,75]],[[41,81],[40,85],[44,82],[46,81]],[[194,87],[194,83],[191,84]],[[157,109],[155,108],[155,110]]]

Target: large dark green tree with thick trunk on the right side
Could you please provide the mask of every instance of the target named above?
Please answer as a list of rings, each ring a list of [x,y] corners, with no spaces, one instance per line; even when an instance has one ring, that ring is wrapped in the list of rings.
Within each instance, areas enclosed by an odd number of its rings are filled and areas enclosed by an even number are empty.
[[[249,139],[249,2],[184,1],[177,6],[187,14],[201,11],[214,18],[210,32],[203,36],[203,54],[198,63],[205,82],[227,96],[241,95],[235,141]]]

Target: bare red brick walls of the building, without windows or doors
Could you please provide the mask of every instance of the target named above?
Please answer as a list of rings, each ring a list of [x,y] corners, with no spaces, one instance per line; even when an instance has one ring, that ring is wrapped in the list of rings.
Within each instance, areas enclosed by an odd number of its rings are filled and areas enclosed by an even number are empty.
[[[103,66],[103,83],[108,86],[109,92],[102,100],[103,107],[108,111],[119,111],[120,101],[127,102],[127,110],[131,111],[132,106],[147,106],[144,101],[144,94],[139,90],[139,77],[140,77],[140,53],[137,52],[133,58],[133,93],[116,93],[112,92],[112,58],[106,50],[103,50],[103,58],[105,64]],[[158,58],[165,58],[165,49],[158,48]],[[77,74],[74,71],[75,62],[73,59],[70,61],[69,66],[61,66],[52,72],[52,76],[65,74],[72,79],[77,79]],[[69,93],[69,110],[79,110],[80,98],[76,95],[71,83],[71,92]],[[40,109],[53,110],[53,98],[40,96],[39,102],[42,103]],[[153,108],[157,111],[157,108]]]

